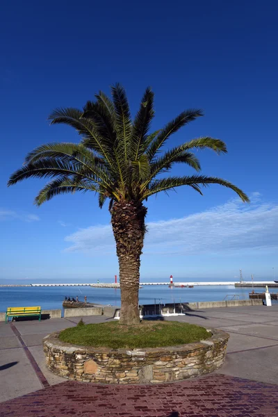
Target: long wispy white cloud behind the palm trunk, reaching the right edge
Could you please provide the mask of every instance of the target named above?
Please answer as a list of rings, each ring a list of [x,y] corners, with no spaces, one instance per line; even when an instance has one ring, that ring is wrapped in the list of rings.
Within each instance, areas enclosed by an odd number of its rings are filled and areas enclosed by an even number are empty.
[[[263,202],[259,193],[251,204],[233,199],[227,204],[184,218],[147,224],[144,254],[225,254],[278,248],[278,206]],[[67,252],[115,254],[111,225],[92,226],[65,238]]]

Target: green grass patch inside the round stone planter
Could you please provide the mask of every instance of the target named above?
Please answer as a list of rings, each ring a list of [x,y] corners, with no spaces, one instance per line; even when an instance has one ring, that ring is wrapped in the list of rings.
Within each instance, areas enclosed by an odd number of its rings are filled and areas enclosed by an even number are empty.
[[[143,321],[126,326],[119,322],[77,325],[60,332],[60,340],[74,345],[94,347],[162,347],[199,342],[211,337],[204,327],[174,321]]]

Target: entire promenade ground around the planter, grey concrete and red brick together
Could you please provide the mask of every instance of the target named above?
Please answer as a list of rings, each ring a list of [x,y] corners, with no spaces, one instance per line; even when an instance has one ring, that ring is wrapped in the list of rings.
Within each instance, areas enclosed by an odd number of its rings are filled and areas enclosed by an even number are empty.
[[[50,373],[42,338],[79,320],[0,323],[0,417],[278,417],[277,304],[170,318],[229,332],[227,359],[213,375],[155,386],[99,386]]]

